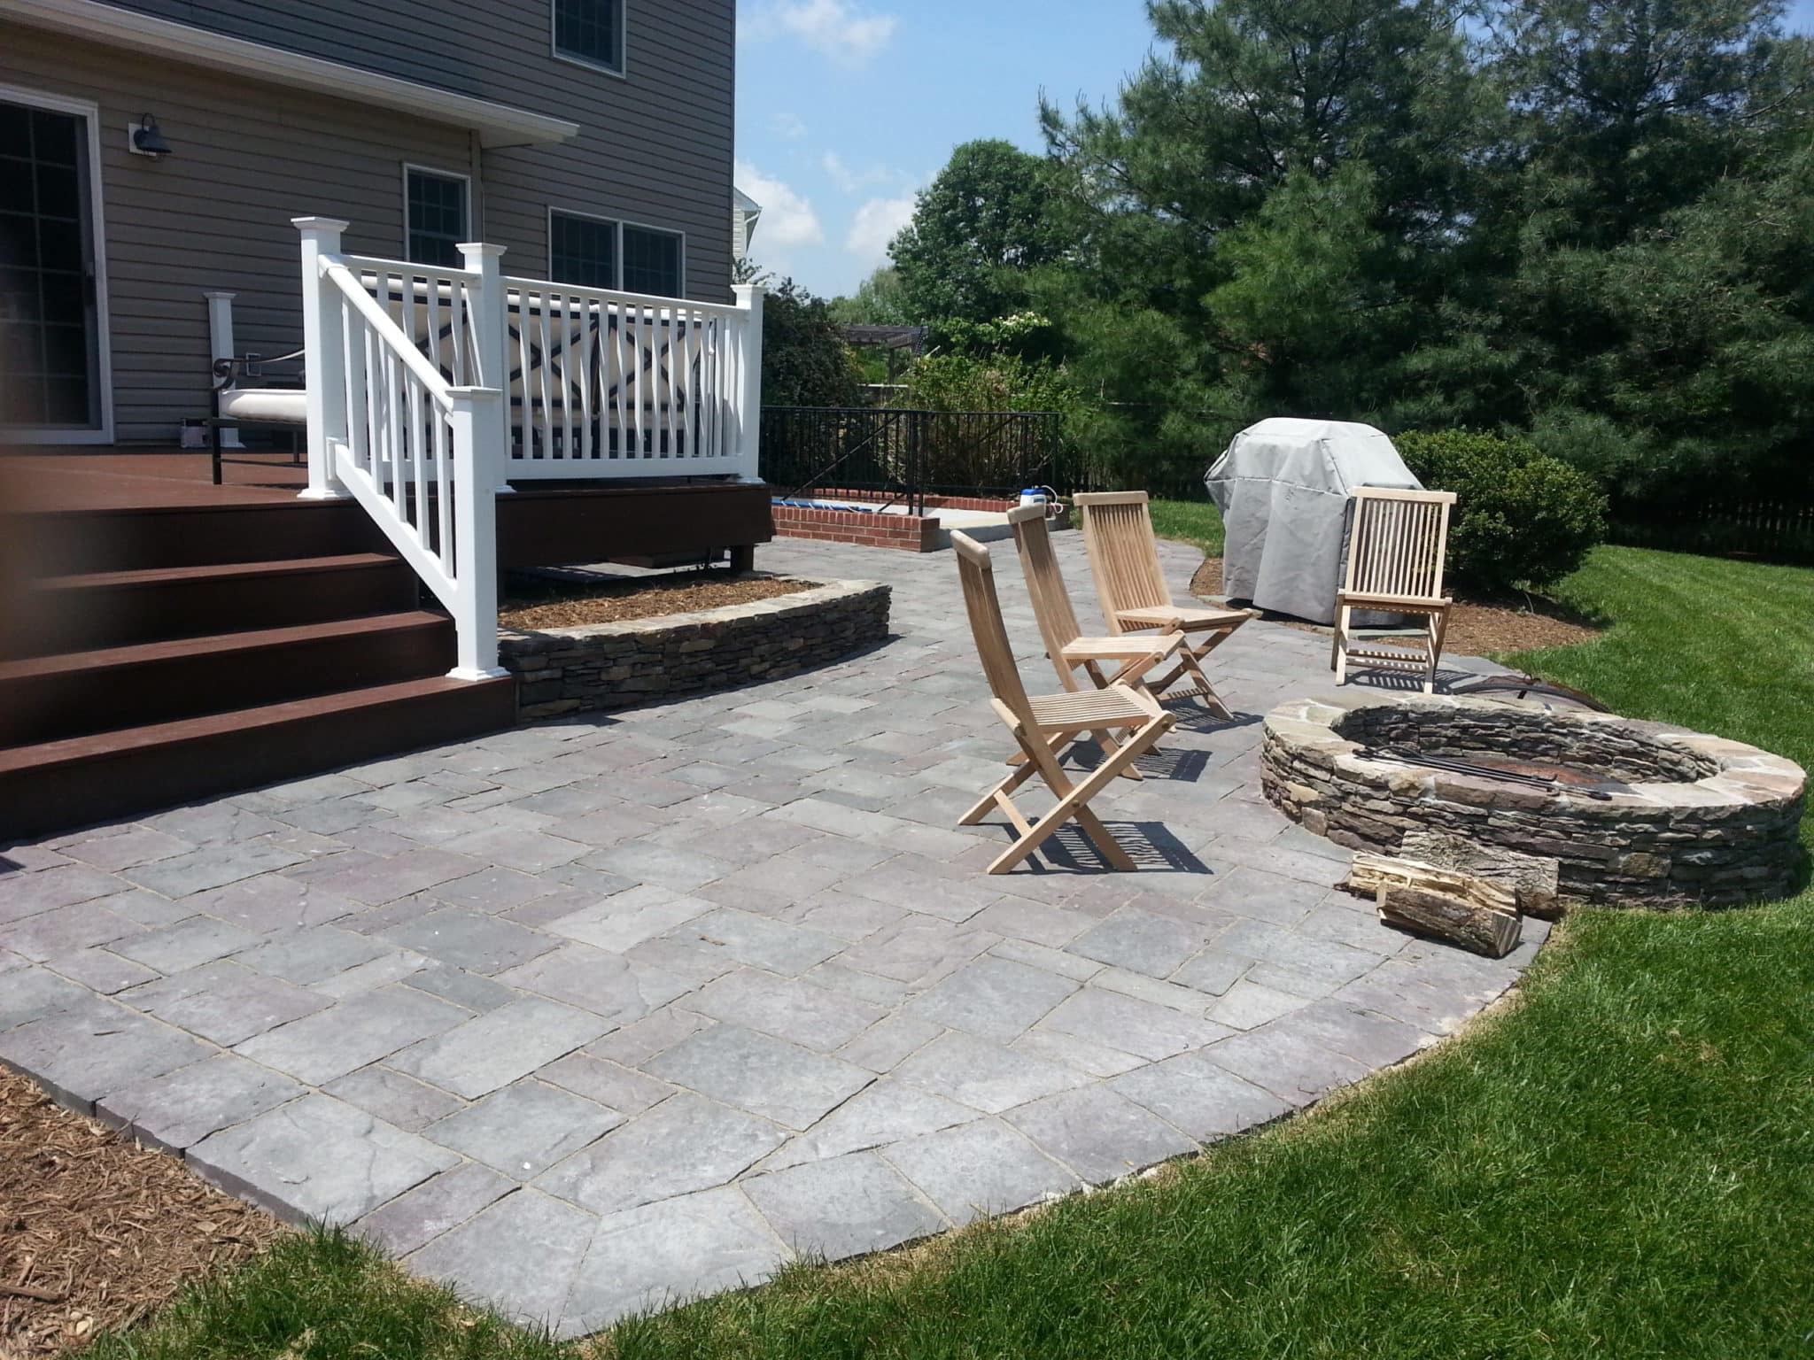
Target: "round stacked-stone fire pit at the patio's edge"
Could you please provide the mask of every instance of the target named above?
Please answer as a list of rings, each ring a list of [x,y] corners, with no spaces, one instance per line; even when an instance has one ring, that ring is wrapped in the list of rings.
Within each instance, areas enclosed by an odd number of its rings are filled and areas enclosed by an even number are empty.
[[[1551,774],[1558,787],[1362,754],[1382,747]],[[1787,892],[1807,787],[1799,765],[1743,742],[1442,695],[1282,704],[1266,714],[1261,772],[1279,811],[1339,845],[1391,854],[1406,831],[1448,831],[1553,856],[1565,899],[1653,907]]]

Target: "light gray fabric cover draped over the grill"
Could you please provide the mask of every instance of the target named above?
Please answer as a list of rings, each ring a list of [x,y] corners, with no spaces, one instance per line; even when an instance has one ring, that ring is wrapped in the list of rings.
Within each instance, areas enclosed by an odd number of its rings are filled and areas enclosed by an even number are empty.
[[[1370,424],[1272,419],[1250,424],[1203,479],[1223,511],[1223,593],[1315,624],[1335,622],[1355,486],[1419,488]],[[1386,626],[1391,615],[1357,615]]]

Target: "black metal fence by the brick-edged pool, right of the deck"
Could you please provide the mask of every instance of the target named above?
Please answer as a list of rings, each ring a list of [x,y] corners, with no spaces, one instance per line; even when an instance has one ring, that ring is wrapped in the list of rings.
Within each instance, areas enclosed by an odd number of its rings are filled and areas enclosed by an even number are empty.
[[[1018,495],[1058,475],[1056,412],[900,412],[764,406],[762,479],[785,497],[869,491],[922,510],[927,495]]]

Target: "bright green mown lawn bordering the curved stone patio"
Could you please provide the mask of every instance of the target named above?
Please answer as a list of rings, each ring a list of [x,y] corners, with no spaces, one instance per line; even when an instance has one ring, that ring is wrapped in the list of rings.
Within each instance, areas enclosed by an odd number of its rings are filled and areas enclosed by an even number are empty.
[[[1199,520],[1197,529],[1208,533]],[[1814,573],[1600,549],[1520,658],[1814,758]],[[1814,898],[1585,910],[1520,1001],[1313,1113],[1018,1226],[619,1327],[671,1356],[1814,1355]],[[577,1355],[297,1239],[98,1351]]]

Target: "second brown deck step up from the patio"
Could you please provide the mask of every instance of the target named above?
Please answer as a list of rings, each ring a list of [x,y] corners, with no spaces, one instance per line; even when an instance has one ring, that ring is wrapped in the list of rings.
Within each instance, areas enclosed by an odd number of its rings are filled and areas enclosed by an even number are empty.
[[[454,660],[454,620],[415,609],[0,662],[0,747],[419,680]]]

